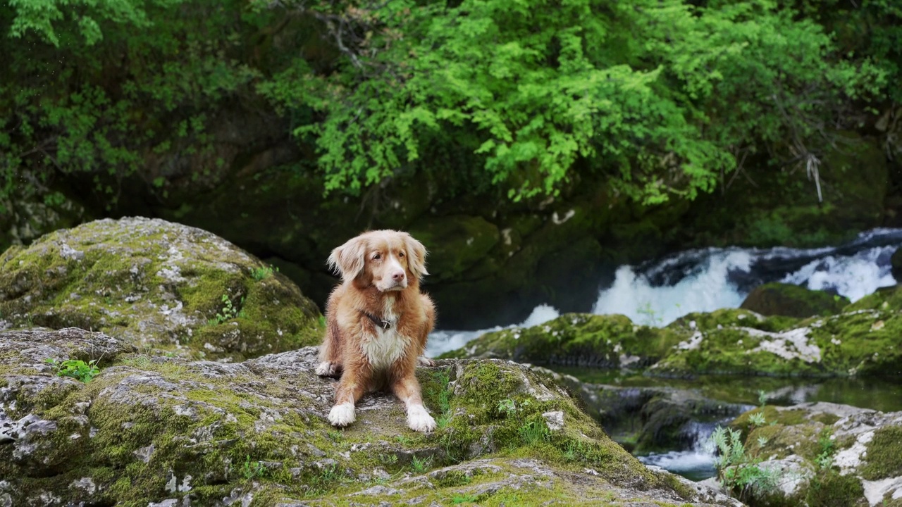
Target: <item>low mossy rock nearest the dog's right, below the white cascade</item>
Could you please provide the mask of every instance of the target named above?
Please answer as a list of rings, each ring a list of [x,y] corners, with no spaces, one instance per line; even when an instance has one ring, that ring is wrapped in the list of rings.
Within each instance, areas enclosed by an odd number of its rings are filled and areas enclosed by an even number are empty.
[[[622,315],[568,313],[533,327],[486,333],[443,357],[496,357],[535,364],[641,368],[667,355],[685,336],[638,326]]]

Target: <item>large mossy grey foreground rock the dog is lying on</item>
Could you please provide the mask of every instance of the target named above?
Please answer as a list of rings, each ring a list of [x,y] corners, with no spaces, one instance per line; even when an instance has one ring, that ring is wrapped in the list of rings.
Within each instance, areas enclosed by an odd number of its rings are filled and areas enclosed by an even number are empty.
[[[224,364],[41,333],[0,336],[0,504],[734,504],[642,466],[520,364],[419,369],[433,433],[407,429],[382,394],[333,429],[336,381],[313,372],[315,347]],[[101,349],[90,383],[44,362]]]

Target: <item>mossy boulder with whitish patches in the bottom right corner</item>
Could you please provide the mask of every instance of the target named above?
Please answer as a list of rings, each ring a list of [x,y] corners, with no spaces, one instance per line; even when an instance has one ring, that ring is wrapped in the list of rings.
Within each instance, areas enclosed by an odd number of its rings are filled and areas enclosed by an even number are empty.
[[[752,504],[902,505],[902,412],[803,403],[751,410],[732,426],[754,466],[777,475],[747,491]]]

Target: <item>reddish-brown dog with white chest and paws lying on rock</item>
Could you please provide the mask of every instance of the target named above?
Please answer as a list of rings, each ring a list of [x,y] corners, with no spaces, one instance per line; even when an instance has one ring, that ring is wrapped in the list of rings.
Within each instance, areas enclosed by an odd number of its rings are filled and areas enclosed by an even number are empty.
[[[434,364],[422,356],[436,318],[432,300],[419,291],[428,274],[426,247],[408,233],[371,231],[333,250],[328,265],[342,279],[327,301],[316,370],[341,377],[329,422],[353,423],[364,392],[388,387],[404,402],[410,429],[436,429],[414,375],[417,364]]]

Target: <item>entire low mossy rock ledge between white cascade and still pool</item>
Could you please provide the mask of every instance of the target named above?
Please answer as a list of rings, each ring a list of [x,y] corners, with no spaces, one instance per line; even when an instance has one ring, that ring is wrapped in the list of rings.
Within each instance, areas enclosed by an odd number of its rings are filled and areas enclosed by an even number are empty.
[[[443,357],[628,368],[664,377],[902,375],[900,301],[902,291],[884,290],[830,317],[719,309],[688,314],[667,327],[637,326],[617,315],[566,314],[486,333]]]

